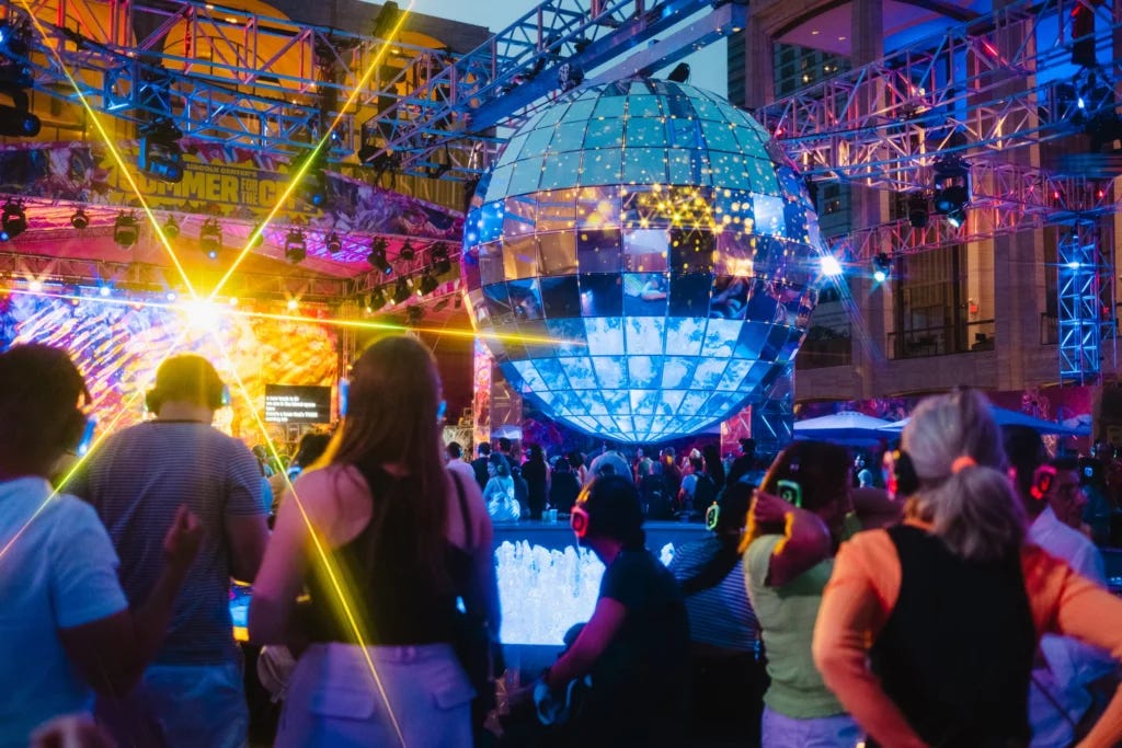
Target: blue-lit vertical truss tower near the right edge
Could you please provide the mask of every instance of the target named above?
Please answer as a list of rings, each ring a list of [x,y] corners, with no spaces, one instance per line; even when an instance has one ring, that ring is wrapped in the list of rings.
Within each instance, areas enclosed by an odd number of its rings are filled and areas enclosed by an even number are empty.
[[[1103,339],[1114,336],[1114,299],[1103,297],[1113,288],[1113,270],[1094,221],[1076,220],[1060,237],[1058,274],[1060,382],[1100,384]]]

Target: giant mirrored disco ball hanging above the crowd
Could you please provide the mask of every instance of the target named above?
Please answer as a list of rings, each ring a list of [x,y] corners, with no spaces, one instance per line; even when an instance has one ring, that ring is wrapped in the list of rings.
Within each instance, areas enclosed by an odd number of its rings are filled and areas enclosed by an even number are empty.
[[[516,391],[581,431],[656,442],[762,399],[806,333],[819,251],[760,123],[631,79],[517,130],[476,192],[461,267]]]

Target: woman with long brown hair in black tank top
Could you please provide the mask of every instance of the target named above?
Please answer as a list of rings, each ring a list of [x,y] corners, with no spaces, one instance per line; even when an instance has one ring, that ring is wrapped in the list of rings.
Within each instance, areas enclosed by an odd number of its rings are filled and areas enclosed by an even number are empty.
[[[457,598],[498,630],[493,530],[478,486],[444,468],[439,409],[431,353],[376,342],[323,467],[282,506],[249,615],[257,641],[310,643],[278,746],[471,745],[473,689],[451,645]]]

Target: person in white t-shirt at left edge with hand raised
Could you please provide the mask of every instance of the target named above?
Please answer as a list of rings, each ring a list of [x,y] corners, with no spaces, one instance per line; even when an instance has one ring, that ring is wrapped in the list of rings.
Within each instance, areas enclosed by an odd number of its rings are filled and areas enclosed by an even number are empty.
[[[80,398],[89,395],[64,351],[0,354],[0,748],[25,748],[61,714],[90,713],[94,692],[131,687],[199,551],[197,521],[181,511],[159,581],[129,610],[96,512],[47,482],[81,437]]]

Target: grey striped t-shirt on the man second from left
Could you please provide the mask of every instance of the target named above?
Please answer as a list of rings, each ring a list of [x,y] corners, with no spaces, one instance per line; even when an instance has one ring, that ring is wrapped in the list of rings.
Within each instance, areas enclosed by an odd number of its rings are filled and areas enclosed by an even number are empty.
[[[98,510],[120,557],[121,587],[135,606],[164,569],[164,535],[181,504],[203,526],[202,546],[175,600],[156,654],[164,665],[237,657],[230,620],[227,515],[261,515],[261,474],[241,442],[196,422],[150,421],[118,432],[92,453],[67,492]]]

